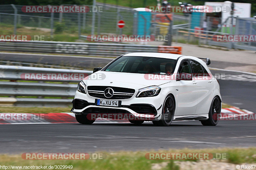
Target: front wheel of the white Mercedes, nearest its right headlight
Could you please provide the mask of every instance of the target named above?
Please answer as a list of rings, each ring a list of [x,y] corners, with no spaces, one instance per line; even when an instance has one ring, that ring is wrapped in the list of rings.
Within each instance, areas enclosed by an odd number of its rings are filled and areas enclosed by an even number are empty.
[[[159,121],[152,121],[156,126],[169,126],[172,123],[175,113],[175,101],[171,94],[169,94],[163,104],[162,116]]]

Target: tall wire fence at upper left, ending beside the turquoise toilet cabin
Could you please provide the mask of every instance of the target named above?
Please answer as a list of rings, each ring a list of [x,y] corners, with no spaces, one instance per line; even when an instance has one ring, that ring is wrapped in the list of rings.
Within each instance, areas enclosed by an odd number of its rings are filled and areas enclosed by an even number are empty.
[[[22,5],[0,5],[1,34],[24,34],[26,29],[26,34],[45,35],[46,40],[54,40],[52,37],[61,36],[63,31],[76,39],[81,34],[120,34],[117,22],[121,19],[125,21],[122,33],[133,34],[133,9],[87,6],[90,11],[86,13],[25,13]]]

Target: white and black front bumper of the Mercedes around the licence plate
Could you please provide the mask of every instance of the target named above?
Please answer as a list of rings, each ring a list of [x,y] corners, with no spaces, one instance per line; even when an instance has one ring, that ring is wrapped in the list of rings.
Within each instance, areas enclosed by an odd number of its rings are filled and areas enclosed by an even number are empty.
[[[95,98],[90,95],[76,91],[73,108],[71,112],[76,115],[88,115],[88,114],[127,114],[132,115],[132,118],[138,118],[145,121],[160,120],[162,113],[162,103],[164,96],[161,93],[154,97],[141,97],[136,98],[136,92],[130,99],[122,99],[121,107],[110,107],[110,106],[98,106],[95,100],[100,98]],[[78,109],[74,107],[76,100],[85,102],[85,107],[82,106]],[[105,100],[105,99],[104,99]],[[111,100],[111,99],[109,99]],[[134,107],[136,106],[136,107]],[[138,110],[139,107],[148,107],[151,109],[150,112],[134,111]],[[144,107],[145,108],[145,107]],[[154,110],[154,112],[152,111]]]

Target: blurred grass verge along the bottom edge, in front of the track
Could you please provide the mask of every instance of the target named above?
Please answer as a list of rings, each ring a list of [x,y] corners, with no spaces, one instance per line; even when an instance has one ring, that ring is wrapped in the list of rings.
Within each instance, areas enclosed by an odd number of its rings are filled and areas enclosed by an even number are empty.
[[[83,152],[83,151],[81,151]],[[226,162],[231,164],[255,163],[256,162],[256,148],[218,148],[218,149],[175,149],[175,150],[159,150],[159,151],[136,151],[136,152],[98,152],[105,153],[105,159],[97,160],[26,160],[21,158],[21,154],[16,155],[0,155],[1,164],[5,166],[54,166],[67,165],[73,166],[74,170],[82,169],[152,169],[154,164],[166,162],[166,166],[160,169],[180,169],[175,165],[174,160],[148,160],[145,154],[148,152],[157,153],[226,153],[226,159],[215,159],[216,162]],[[178,160],[187,161],[187,160]],[[207,160],[204,160],[207,161]],[[18,169],[18,168],[17,168]]]

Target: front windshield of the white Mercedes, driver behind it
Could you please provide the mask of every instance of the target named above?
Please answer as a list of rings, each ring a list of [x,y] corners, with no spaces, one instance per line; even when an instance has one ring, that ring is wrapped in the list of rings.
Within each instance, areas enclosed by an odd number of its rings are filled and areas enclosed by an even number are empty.
[[[172,73],[176,60],[157,57],[122,56],[110,64],[104,71],[125,73]]]

